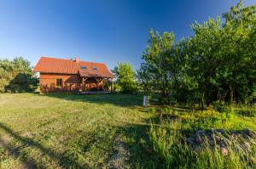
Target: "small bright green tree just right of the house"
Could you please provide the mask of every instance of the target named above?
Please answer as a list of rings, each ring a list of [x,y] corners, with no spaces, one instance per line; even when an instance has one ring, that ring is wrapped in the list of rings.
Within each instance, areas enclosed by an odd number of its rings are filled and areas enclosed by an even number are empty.
[[[117,78],[116,83],[121,87],[122,93],[137,92],[136,73],[131,64],[119,63],[112,71]]]

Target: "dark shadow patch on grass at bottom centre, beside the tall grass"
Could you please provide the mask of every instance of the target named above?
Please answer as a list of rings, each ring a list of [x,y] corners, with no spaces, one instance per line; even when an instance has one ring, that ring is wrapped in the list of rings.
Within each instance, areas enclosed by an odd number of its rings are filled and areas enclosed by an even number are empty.
[[[151,124],[159,122],[159,116],[154,115],[141,124],[127,124],[118,127],[125,145],[130,152],[131,168],[162,168],[161,159],[155,155],[153,145],[149,140]]]

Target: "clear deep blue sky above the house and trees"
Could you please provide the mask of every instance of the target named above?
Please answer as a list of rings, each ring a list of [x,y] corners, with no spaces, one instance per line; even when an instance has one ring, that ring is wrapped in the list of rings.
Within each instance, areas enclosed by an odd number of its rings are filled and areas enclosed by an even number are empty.
[[[237,0],[0,0],[0,59],[40,56],[104,62],[137,69],[149,30],[172,31],[176,41],[189,25],[216,17]],[[256,3],[244,0],[245,5]]]

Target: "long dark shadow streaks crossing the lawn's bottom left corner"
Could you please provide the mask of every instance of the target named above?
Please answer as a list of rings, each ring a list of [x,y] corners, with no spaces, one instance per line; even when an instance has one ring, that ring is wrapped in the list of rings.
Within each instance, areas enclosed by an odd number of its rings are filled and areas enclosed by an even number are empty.
[[[77,162],[70,156],[57,153],[52,149],[44,147],[44,145],[34,141],[32,138],[26,138],[18,135],[10,127],[3,124],[2,122],[0,122],[0,129],[3,129],[3,131],[8,133],[9,136],[11,136],[12,138],[15,138],[15,141],[20,142],[22,144],[21,147],[32,147],[40,150],[44,155],[48,155],[51,159],[56,161],[59,164],[59,166],[61,166],[62,168],[88,168],[88,166],[81,166],[79,162]],[[2,142],[2,145],[3,145],[3,148],[11,152],[11,154],[14,155],[15,157],[18,157],[19,155],[21,155],[20,150],[22,148],[12,149],[9,145],[5,144],[4,142]],[[21,156],[21,159],[22,157],[24,158],[24,156]],[[40,168],[45,168],[44,164],[38,164],[35,161],[32,161],[30,159],[25,159],[24,162],[25,163],[27,162],[26,164],[29,164],[30,166],[37,166],[37,167],[39,166]]]

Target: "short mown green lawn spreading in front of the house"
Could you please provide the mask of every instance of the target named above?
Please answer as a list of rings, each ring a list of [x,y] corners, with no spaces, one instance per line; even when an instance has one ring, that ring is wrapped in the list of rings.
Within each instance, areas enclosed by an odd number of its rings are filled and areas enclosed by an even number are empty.
[[[152,166],[144,136],[154,115],[140,95],[0,95],[0,168],[104,168],[114,139],[129,145],[125,166]],[[142,158],[137,158],[141,156]]]

